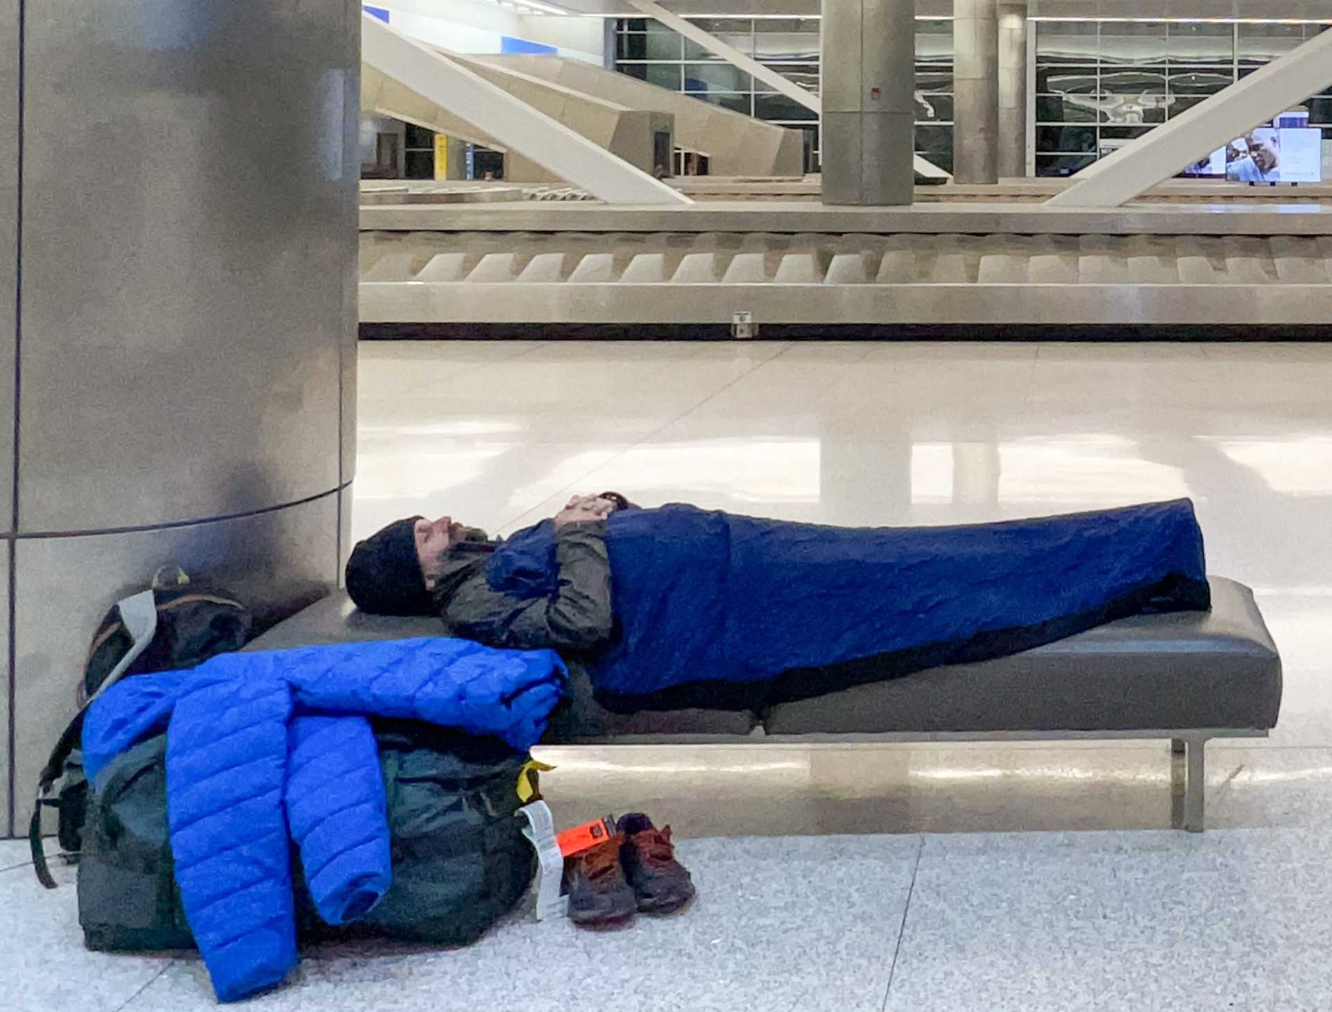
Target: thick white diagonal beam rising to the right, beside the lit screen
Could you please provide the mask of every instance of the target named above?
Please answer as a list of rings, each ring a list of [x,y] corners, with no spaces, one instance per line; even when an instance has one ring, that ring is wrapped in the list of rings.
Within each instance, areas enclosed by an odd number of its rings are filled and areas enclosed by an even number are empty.
[[[1332,84],[1332,31],[1088,165],[1047,208],[1118,208]]]

